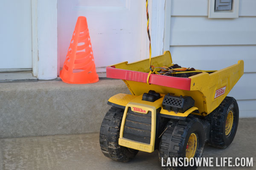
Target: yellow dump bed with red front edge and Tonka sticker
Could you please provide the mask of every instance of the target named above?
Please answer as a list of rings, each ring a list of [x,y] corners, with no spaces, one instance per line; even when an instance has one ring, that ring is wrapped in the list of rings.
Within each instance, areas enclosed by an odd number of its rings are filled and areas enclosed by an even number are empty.
[[[239,60],[237,64],[211,74],[203,72],[188,78],[151,74],[150,84],[147,84],[146,77],[150,71],[148,63],[148,59],[145,59],[130,64],[122,62],[109,66],[107,67],[107,77],[123,79],[131,94],[135,96],[140,96],[149,90],[160,94],[191,96],[195,100],[195,108],[198,109],[195,114],[201,116],[206,116],[217,108],[244,73],[244,62]],[[173,65],[170,52],[166,51],[161,56],[153,57],[152,65],[155,67]],[[110,99],[112,102],[113,100]],[[116,102],[118,101],[122,100],[116,100]],[[162,113],[177,115],[177,113],[169,111],[162,111]]]

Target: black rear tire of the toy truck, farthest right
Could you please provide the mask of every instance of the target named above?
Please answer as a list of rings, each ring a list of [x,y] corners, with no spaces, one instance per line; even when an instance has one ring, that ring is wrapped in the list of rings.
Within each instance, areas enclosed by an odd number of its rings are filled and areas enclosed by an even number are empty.
[[[225,125],[227,115],[230,110],[233,112],[233,126],[229,136],[226,136]],[[211,128],[210,138],[207,144],[222,149],[228,147],[236,136],[236,130],[239,122],[239,108],[236,99],[233,97],[226,97],[218,108],[209,114],[208,121],[211,124]]]

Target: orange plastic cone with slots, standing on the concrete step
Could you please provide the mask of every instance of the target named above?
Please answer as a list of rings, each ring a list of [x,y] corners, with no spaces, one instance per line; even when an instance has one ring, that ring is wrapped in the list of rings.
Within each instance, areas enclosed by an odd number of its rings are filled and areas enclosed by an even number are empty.
[[[60,71],[63,82],[86,84],[99,81],[86,17],[78,17],[67,57]]]

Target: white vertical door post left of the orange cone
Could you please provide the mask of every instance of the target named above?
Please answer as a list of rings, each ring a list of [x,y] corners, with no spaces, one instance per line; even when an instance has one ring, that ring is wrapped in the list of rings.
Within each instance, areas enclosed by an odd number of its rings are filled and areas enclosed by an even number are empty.
[[[31,0],[32,67],[38,79],[57,78],[57,0]]]

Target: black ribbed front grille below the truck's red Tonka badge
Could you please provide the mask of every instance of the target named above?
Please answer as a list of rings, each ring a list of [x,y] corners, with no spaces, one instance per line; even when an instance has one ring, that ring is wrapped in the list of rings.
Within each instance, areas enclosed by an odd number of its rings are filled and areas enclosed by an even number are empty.
[[[137,142],[150,144],[151,111],[148,114],[137,113],[128,108],[123,137]]]

